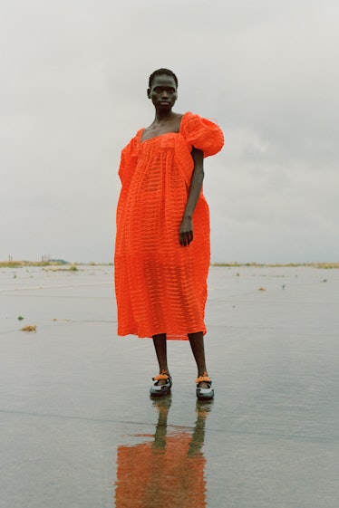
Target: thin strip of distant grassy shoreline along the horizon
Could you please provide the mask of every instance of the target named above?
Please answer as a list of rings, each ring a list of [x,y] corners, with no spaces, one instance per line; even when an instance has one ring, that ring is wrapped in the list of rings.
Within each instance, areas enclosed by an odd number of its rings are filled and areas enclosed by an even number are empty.
[[[76,266],[112,266],[112,263],[69,263],[66,261],[50,260],[50,261],[0,261],[0,268],[23,268],[25,266],[70,266],[75,269]],[[296,268],[296,267],[309,267],[309,268],[323,268],[335,269],[339,268],[339,262],[316,262],[316,263],[211,263],[210,266],[220,266],[228,268],[237,267],[251,267],[251,268]]]

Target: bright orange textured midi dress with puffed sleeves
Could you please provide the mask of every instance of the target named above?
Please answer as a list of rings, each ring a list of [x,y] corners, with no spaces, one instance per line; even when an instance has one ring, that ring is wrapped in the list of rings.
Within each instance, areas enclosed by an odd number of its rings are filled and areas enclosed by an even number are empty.
[[[143,129],[121,152],[121,195],[114,255],[118,335],[188,340],[206,333],[210,256],[209,210],[201,190],[193,214],[194,239],[179,244],[194,168],[191,149],[216,154],[218,125],[187,112],[179,132],[141,141]]]

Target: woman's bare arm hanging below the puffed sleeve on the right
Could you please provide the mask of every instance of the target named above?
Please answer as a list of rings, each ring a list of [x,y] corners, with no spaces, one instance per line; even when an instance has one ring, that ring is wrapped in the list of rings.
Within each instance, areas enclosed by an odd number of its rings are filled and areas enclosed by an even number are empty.
[[[204,154],[202,150],[193,147],[191,155],[194,161],[192,179],[189,186],[189,198],[185,207],[184,216],[179,227],[179,244],[189,245],[193,240],[193,221],[192,216],[197,205],[202,182],[204,179]]]

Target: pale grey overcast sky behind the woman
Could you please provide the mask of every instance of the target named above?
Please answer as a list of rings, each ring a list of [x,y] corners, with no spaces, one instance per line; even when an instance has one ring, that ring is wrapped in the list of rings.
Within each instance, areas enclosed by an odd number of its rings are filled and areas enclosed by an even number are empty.
[[[111,262],[121,149],[175,110],[218,121],[213,262],[339,261],[338,0],[2,0],[0,260]]]

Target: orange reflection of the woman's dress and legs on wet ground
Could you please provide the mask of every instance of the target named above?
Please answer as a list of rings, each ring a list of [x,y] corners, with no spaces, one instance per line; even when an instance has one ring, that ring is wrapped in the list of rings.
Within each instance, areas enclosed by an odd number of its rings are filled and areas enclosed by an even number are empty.
[[[158,423],[150,443],[119,446],[116,508],[206,508],[202,454],[210,402],[197,402],[193,432],[168,433],[171,396],[154,400]]]

